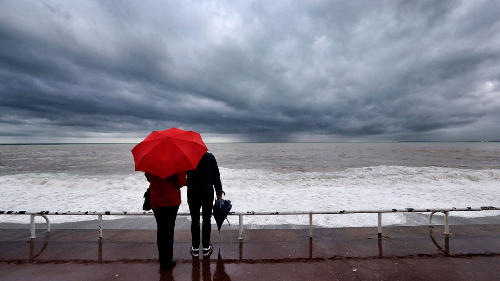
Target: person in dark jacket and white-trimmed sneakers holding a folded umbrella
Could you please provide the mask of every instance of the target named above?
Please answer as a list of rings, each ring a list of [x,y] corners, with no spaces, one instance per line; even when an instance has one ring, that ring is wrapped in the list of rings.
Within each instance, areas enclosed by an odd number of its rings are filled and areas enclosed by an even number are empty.
[[[191,253],[199,255],[199,209],[203,212],[202,245],[203,255],[208,255],[212,251],[210,245],[210,218],[212,216],[213,193],[217,199],[222,197],[222,184],[220,183],[220,173],[217,161],[212,153],[206,152],[195,170],[186,171],[187,177],[187,203],[191,214]],[[225,193],[224,193],[225,195]]]

